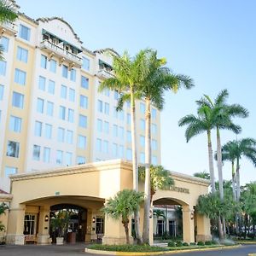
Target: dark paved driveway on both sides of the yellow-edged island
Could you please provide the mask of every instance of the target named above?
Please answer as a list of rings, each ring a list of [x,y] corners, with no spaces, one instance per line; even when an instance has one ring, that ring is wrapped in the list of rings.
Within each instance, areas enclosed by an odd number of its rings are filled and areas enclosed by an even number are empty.
[[[0,256],[90,256],[95,254],[84,253],[85,245],[78,243],[75,245],[63,246],[0,246]],[[209,252],[195,252],[195,253],[177,253],[170,254],[172,256],[247,256],[248,253],[256,253],[256,245],[243,245],[239,248],[228,250],[215,250]],[[167,255],[167,254],[165,254]]]

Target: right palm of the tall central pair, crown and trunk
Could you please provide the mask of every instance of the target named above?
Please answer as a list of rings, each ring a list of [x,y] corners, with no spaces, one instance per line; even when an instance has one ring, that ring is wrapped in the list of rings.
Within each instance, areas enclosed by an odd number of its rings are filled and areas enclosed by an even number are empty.
[[[162,110],[166,90],[177,92],[181,87],[190,89],[193,81],[188,76],[173,74],[165,67],[166,60],[157,57],[157,51],[150,50],[148,55],[148,75],[143,79],[139,93],[145,100],[145,188],[144,188],[144,218],[143,242],[149,241],[149,209],[150,209],[150,166],[151,166],[151,104]]]

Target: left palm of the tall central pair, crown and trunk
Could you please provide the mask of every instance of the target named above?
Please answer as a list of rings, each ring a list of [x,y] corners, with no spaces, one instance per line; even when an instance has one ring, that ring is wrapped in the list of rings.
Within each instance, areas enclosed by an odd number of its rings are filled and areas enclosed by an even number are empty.
[[[137,135],[136,135],[136,109],[135,102],[140,97],[137,87],[147,75],[148,49],[141,50],[134,58],[125,52],[124,55],[113,55],[114,77],[102,81],[99,91],[109,89],[120,93],[117,109],[122,109],[125,102],[131,102],[131,148],[133,189],[138,191],[138,165],[137,165]],[[142,241],[139,229],[139,212],[135,212],[135,231],[138,242]]]

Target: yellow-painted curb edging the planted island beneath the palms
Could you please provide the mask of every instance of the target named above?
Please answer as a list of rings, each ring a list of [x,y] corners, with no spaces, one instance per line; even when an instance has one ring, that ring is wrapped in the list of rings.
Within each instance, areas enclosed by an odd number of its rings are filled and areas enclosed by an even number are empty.
[[[102,255],[162,255],[162,254],[173,254],[173,253],[190,253],[190,252],[201,252],[201,251],[213,251],[213,250],[229,250],[236,247],[241,247],[241,245],[235,246],[221,246],[221,247],[208,247],[208,248],[198,248],[198,249],[184,249],[184,250],[173,250],[173,251],[161,251],[161,252],[147,252],[147,253],[136,253],[136,252],[114,252],[114,251],[100,251],[100,250],[93,250],[89,248],[85,248],[85,253],[94,253],[94,254],[102,254]],[[249,255],[251,256],[251,255]],[[252,254],[252,256],[254,256]],[[255,254],[256,256],[256,254]]]

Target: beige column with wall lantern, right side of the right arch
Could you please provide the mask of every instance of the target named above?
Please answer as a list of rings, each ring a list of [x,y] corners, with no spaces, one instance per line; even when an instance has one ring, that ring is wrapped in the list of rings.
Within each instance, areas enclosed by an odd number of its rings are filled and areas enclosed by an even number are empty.
[[[195,242],[193,206],[183,206],[183,241]]]

